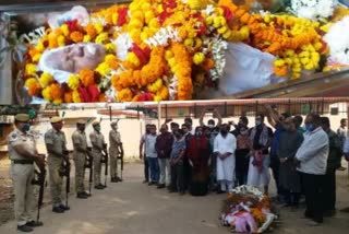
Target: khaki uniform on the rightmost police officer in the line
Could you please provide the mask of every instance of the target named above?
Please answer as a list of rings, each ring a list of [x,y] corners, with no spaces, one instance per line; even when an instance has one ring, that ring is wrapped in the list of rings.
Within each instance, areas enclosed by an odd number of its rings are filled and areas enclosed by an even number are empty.
[[[119,144],[121,143],[121,137],[119,131],[109,131],[109,155],[110,155],[110,177],[116,178],[118,176],[118,156],[120,156]]]

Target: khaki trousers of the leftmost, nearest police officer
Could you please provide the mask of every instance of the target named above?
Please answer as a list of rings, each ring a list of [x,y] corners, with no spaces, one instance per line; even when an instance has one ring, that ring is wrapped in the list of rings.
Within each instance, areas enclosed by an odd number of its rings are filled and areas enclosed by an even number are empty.
[[[31,211],[34,204],[34,165],[13,164],[11,178],[14,190],[14,215],[17,225],[24,225],[32,221]]]

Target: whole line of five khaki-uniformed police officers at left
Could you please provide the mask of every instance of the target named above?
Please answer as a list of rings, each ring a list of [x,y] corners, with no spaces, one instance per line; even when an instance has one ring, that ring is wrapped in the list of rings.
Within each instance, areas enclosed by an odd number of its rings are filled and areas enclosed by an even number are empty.
[[[35,177],[35,165],[40,172],[45,171],[45,157],[38,153],[35,136],[31,132],[31,119],[26,114],[15,116],[15,129],[8,137],[9,154],[11,160],[11,178],[14,188],[14,213],[17,230],[32,232],[33,227],[41,226],[43,222],[34,221],[31,215],[33,202],[33,180]],[[70,208],[62,202],[62,166],[69,164],[69,151],[67,149],[65,134],[62,131],[63,119],[52,117],[52,128],[45,133],[45,144],[48,153],[49,184],[52,197],[52,211],[63,213]],[[118,131],[118,122],[111,122],[109,132],[109,160],[111,183],[122,179],[118,176],[118,159],[123,156],[123,148]],[[103,157],[108,160],[107,144],[100,132],[100,122],[93,122],[94,131],[89,134],[92,149],[87,147],[85,133],[86,122],[79,120],[76,130],[72,134],[73,161],[75,165],[75,191],[76,198],[86,199],[91,194],[85,191],[84,174],[86,159],[93,159],[94,186],[95,189],[104,189],[106,186],[100,182]],[[107,164],[106,164],[107,165]],[[107,169],[107,168],[106,168]]]

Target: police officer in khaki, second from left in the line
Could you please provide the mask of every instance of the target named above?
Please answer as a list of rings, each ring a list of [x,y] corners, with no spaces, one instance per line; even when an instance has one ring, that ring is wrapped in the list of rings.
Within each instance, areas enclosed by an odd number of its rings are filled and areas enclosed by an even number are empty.
[[[65,134],[61,129],[63,128],[63,120],[60,117],[51,118],[52,128],[45,133],[45,144],[48,152],[48,169],[50,175],[50,190],[52,196],[52,211],[56,213],[63,213],[69,210],[62,203],[62,185],[63,178],[60,175],[60,169],[63,160],[69,160],[67,154]]]

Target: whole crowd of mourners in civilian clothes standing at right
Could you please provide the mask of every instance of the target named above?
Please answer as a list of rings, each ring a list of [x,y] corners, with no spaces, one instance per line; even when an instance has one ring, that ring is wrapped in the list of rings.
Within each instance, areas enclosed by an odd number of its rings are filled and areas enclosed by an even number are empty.
[[[209,119],[205,125],[203,118],[212,112],[218,122]],[[205,109],[196,128],[191,118],[181,126],[168,119],[159,133],[149,124],[140,143],[149,186],[204,196],[249,185],[268,195],[272,172],[276,201],[297,209],[305,198],[310,225],[336,213],[336,171],[346,169],[344,156],[349,161],[347,119],[335,132],[328,117],[309,114],[303,125],[302,116],[280,114],[276,106],[265,106],[251,128],[245,116],[238,124],[224,124],[216,109]]]

